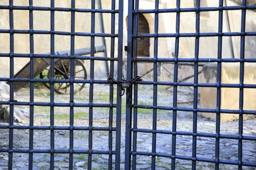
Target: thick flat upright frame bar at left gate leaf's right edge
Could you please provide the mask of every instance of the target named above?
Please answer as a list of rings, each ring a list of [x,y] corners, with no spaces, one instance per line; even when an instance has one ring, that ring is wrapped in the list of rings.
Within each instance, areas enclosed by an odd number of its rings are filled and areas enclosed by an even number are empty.
[[[117,59],[117,80],[122,80],[122,55],[123,55],[123,0],[119,0],[118,12],[118,59]],[[117,85],[116,101],[116,162],[115,169],[120,169],[120,147],[121,147],[121,113],[122,113],[122,96],[119,94],[121,86]],[[129,129],[127,129],[129,130]]]

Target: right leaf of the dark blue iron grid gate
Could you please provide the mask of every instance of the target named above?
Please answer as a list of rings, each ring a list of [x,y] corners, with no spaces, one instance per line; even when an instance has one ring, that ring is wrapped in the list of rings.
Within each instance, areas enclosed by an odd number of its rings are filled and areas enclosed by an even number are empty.
[[[152,62],[154,64],[154,81],[136,82],[134,85],[134,104],[127,107],[126,110],[126,128],[130,129],[126,132],[126,152],[125,152],[125,169],[130,169],[132,159],[132,169],[136,169],[136,156],[151,156],[151,169],[156,169],[156,156],[169,158],[171,161],[172,170],[175,169],[175,161],[178,159],[192,161],[192,169],[196,169],[197,161],[215,163],[215,169],[219,169],[219,164],[237,165],[238,169],[242,167],[256,167],[255,162],[242,161],[242,141],[250,140],[256,141],[255,136],[243,136],[243,114],[256,115],[256,111],[243,110],[243,96],[244,88],[256,88],[256,85],[244,84],[244,62],[256,62],[256,59],[245,59],[245,36],[256,36],[256,32],[245,32],[245,15],[247,9],[256,9],[256,6],[247,6],[247,1],[242,1],[242,6],[223,6],[223,0],[219,0],[218,7],[200,7],[200,0],[196,0],[195,8],[180,8],[180,1],[177,0],[176,8],[159,9],[159,0],[155,0],[154,9],[139,9],[139,0],[129,0],[128,2],[128,59],[127,59],[127,77],[132,77],[132,70],[134,69],[134,76],[137,73],[137,62]],[[223,32],[223,11],[225,10],[241,10],[241,31],[240,32]],[[218,11],[218,32],[200,33],[200,11]],[[159,34],[159,13],[176,13],[176,33]],[[195,12],[195,32],[180,33],[180,13],[181,12]],[[139,14],[154,14],[154,34],[138,34],[138,17]],[[165,22],[168,22],[165,20]],[[241,53],[240,58],[222,58],[222,38],[224,36],[239,36],[241,37]],[[139,58],[137,57],[137,40],[138,38],[151,37],[154,38],[154,57],[153,58]],[[175,55],[174,58],[158,58],[158,38],[174,37],[175,38]],[[194,58],[179,58],[179,39],[180,37],[195,37],[195,57]],[[198,58],[200,37],[218,37],[218,57],[217,58]],[[173,62],[174,63],[174,79],[173,82],[159,82],[157,81],[157,63],[158,62]],[[194,82],[178,82],[178,63],[191,62],[194,64]],[[198,83],[198,65],[200,62],[218,62],[217,66],[217,83]],[[222,62],[240,62],[240,82],[239,84],[224,84],[221,83],[221,63]],[[139,85],[153,85],[153,105],[138,105],[138,86]],[[173,105],[172,106],[158,106],[157,105],[157,86],[158,85],[172,85],[173,86]],[[178,86],[191,86],[194,88],[194,103],[193,108],[177,107],[177,88]],[[217,88],[217,105],[216,109],[198,108],[198,87]],[[239,88],[239,110],[221,109],[221,88]],[[134,112],[132,114],[132,109]],[[147,108],[153,110],[153,128],[152,129],[138,129],[137,127],[137,108]],[[172,130],[157,129],[157,110],[172,111]],[[177,111],[193,112],[193,132],[177,131]],[[197,132],[197,116],[198,112],[216,113],[216,133],[198,133]],[[221,113],[236,113],[239,114],[239,134],[238,135],[224,135],[220,134],[220,116]],[[133,115],[133,126],[132,116]],[[137,151],[137,132],[152,133],[152,151],[141,152]],[[171,153],[157,153],[156,139],[157,134],[162,133],[172,135],[172,152]],[[133,135],[133,136],[132,136]],[[176,136],[185,135],[192,136],[192,156],[176,155]],[[197,137],[215,138],[215,158],[201,158],[197,156]],[[131,143],[131,138],[133,142]],[[238,161],[219,159],[220,154],[220,139],[236,139],[238,140]],[[129,148],[128,148],[129,146]],[[130,152],[128,153],[130,149]],[[132,157],[132,158],[131,158]]]

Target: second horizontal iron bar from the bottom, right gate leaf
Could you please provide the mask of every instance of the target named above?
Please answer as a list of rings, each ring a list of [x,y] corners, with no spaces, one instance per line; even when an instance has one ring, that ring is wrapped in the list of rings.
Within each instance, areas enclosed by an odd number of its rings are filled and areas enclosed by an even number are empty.
[[[151,130],[151,129],[134,129],[130,128],[133,132],[142,132],[142,133],[161,133],[161,134],[170,134],[170,135],[184,135],[184,136],[200,136],[208,138],[221,138],[221,139],[239,139],[238,135],[224,135],[224,134],[212,134],[212,133],[192,133],[192,132],[173,132],[170,130]],[[256,136],[242,136],[242,140],[256,141]]]

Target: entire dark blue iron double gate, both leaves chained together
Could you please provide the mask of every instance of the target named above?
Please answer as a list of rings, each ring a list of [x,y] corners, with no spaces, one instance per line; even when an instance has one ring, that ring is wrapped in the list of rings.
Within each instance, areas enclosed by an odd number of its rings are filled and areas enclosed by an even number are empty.
[[[0,77],[0,81],[9,82],[10,85],[10,100],[0,101],[0,105],[10,106],[10,121],[9,125],[0,125],[0,129],[9,130],[9,144],[8,149],[0,148],[0,152],[8,153],[8,169],[13,168],[13,153],[26,153],[29,154],[29,170],[33,169],[33,154],[35,153],[48,153],[50,154],[50,169],[53,170],[55,165],[54,154],[66,153],[69,154],[69,169],[73,169],[73,155],[74,154],[88,154],[87,169],[92,169],[92,155],[105,154],[108,155],[108,169],[113,168],[113,164],[116,170],[122,169],[120,167],[120,150],[121,150],[121,122],[122,122],[122,96],[126,93],[126,108],[125,108],[125,170],[137,169],[137,156],[148,156],[151,158],[150,168],[157,169],[156,161],[158,157],[167,158],[170,161],[170,167],[166,169],[175,170],[175,164],[177,160],[187,160],[192,162],[192,169],[195,170],[198,162],[214,163],[215,169],[219,169],[220,164],[236,165],[239,170],[242,167],[256,167],[255,162],[243,161],[243,141],[256,141],[255,136],[243,135],[243,115],[251,114],[256,115],[256,111],[243,110],[243,96],[244,88],[256,88],[253,84],[244,84],[244,63],[256,62],[255,58],[244,58],[245,51],[245,37],[256,36],[256,32],[245,31],[245,15],[248,9],[256,10],[256,5],[247,6],[247,1],[242,0],[242,6],[224,6],[224,0],[219,0],[218,7],[200,7],[200,0],[196,0],[195,8],[180,8],[180,1],[176,0],[176,8],[159,8],[160,0],[155,0],[154,9],[139,9],[139,0],[128,0],[128,6],[124,7],[124,0],[118,0],[119,8],[116,9],[116,0],[111,0],[111,9],[97,9],[95,0],[91,0],[90,9],[76,8],[75,0],[71,1],[71,8],[55,7],[55,0],[51,0],[50,7],[38,7],[33,6],[33,0],[29,0],[29,6],[14,6],[14,0],[9,0],[9,5],[1,5],[0,9],[9,10],[9,29],[0,29],[0,33],[7,33],[10,36],[10,52],[0,53],[0,57],[10,58],[10,76],[9,78]],[[127,46],[123,45],[123,23],[124,23],[124,8],[128,8],[128,34],[127,34]],[[14,25],[14,10],[27,10],[29,11],[29,30],[15,29]],[[223,32],[223,12],[228,10],[241,10],[241,31],[240,32]],[[33,28],[33,11],[50,11],[50,30],[41,31],[34,30]],[[71,13],[71,31],[55,31],[55,11],[68,11]],[[200,12],[201,11],[218,11],[218,32],[200,32]],[[75,14],[76,12],[84,12],[91,14],[91,32],[76,32],[75,31]],[[195,12],[195,32],[193,33],[180,33],[180,14],[183,12]],[[96,33],[95,32],[95,14],[108,13],[111,14],[111,33]],[[160,13],[175,13],[176,14],[176,32],[171,33],[159,33],[159,14]],[[115,15],[118,14],[118,34],[115,34]],[[153,34],[139,34],[139,14],[154,14],[154,33]],[[168,21],[165,21],[168,22]],[[217,24],[217,23],[216,23]],[[14,51],[14,34],[29,34],[30,53],[29,54],[17,54]],[[50,54],[34,54],[34,35],[35,34],[49,34],[50,35]],[[67,35],[70,36],[70,54],[57,55],[55,54],[55,35]],[[75,55],[75,37],[83,36],[90,37],[90,56]],[[241,37],[240,58],[222,58],[222,38],[228,36]],[[111,38],[111,56],[107,57],[95,57],[95,37],[110,37]],[[173,58],[159,57],[158,56],[158,40],[163,37],[175,38],[175,53]],[[195,37],[195,57],[194,58],[179,58],[179,40],[180,37]],[[199,58],[199,42],[200,37],[218,37],[218,56],[217,58]],[[118,57],[115,57],[115,38],[118,38]],[[138,39],[139,38],[153,38],[154,39],[154,57],[142,58],[137,57]],[[127,51],[127,72],[126,79],[122,79],[123,74],[123,50]],[[1,51],[0,51],[1,52]],[[29,78],[15,78],[14,75],[14,58],[26,57],[30,59],[30,77]],[[55,79],[54,74],[48,79],[35,79],[34,77],[34,61],[36,58],[50,59],[51,73],[54,73],[55,60],[58,58],[70,59],[70,78],[69,79]],[[89,79],[75,79],[74,67],[75,59],[90,60],[90,78]],[[109,61],[110,62],[110,75],[106,80],[96,80],[94,78],[94,61]],[[138,62],[148,62],[153,64],[153,81],[141,81],[138,76]],[[174,64],[174,79],[173,81],[158,81],[158,64],[160,63],[173,63]],[[178,80],[178,64],[183,62],[189,62],[194,65],[194,82],[180,82]],[[201,62],[217,62],[217,83],[198,83],[198,68]],[[222,62],[239,62],[240,63],[240,82],[239,84],[223,84],[221,83],[221,64]],[[114,63],[117,63],[117,74],[114,79]],[[30,83],[30,98],[29,102],[20,102],[15,100],[14,97],[14,84],[15,82],[29,82]],[[45,82],[50,84],[50,102],[35,102],[34,101],[34,83]],[[55,83],[70,83],[70,101],[69,102],[55,102]],[[88,103],[76,103],[74,102],[74,83],[86,83],[90,85],[89,102]],[[94,103],[93,102],[93,89],[95,84],[109,84],[110,94],[109,103]],[[116,101],[114,101],[114,85],[117,85]],[[138,102],[138,87],[140,85],[153,85],[153,105],[143,105]],[[169,106],[157,105],[157,87],[162,85],[173,86],[173,104]],[[191,87],[193,88],[193,108],[178,107],[178,87]],[[215,109],[198,108],[198,88],[199,87],[211,87],[217,89],[217,105]],[[221,109],[221,88],[239,88],[239,110],[227,110]],[[15,105],[28,105],[30,116],[29,125],[14,125],[14,106]],[[34,126],[34,106],[48,106],[50,107],[50,126]],[[54,108],[55,107],[67,107],[70,108],[70,126],[55,126],[54,125]],[[78,127],[74,126],[74,108],[87,107],[89,108],[89,126]],[[108,127],[95,127],[93,126],[93,108],[109,108],[109,126]],[[113,125],[113,109],[116,108],[116,125]],[[138,128],[137,127],[137,115],[138,109],[151,109],[152,114],[152,129]],[[161,130],[157,128],[157,112],[160,110],[172,111],[172,130]],[[193,112],[193,131],[177,131],[177,111]],[[197,117],[198,112],[216,113],[216,133],[199,133],[197,131]],[[220,116],[221,113],[236,113],[239,114],[239,133],[238,135],[225,135],[220,133]],[[133,122],[132,122],[133,121]],[[15,149],[14,148],[14,130],[26,129],[29,130],[29,149]],[[34,130],[50,130],[50,149],[34,149]],[[66,150],[55,149],[54,143],[54,131],[55,130],[69,130],[70,147]],[[89,132],[88,136],[88,150],[76,150],[74,149],[74,131],[84,130]],[[106,150],[93,150],[93,131],[107,131],[108,132],[108,148]],[[116,133],[115,137],[115,150],[113,150],[113,132]],[[151,152],[137,151],[137,133],[150,133],[152,134],[152,149]],[[157,135],[163,134],[166,136],[172,136],[170,141],[172,151],[169,153],[159,153],[156,150]],[[181,156],[176,154],[176,137],[177,136],[192,136],[192,155]],[[214,158],[203,158],[197,155],[197,139],[198,137],[207,137],[215,139],[215,156]],[[220,159],[220,139],[236,139],[238,142],[238,160],[223,160]],[[113,155],[115,155],[115,161],[113,163]],[[17,163],[17,162],[16,162]],[[15,163],[15,164],[16,164]],[[176,168],[177,169],[177,168]]]

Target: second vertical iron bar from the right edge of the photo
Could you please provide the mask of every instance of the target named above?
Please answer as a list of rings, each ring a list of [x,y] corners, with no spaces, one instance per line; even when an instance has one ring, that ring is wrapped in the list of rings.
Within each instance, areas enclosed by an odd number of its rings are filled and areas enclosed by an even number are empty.
[[[223,7],[223,0],[219,1],[219,7]],[[223,11],[218,12],[218,32],[223,31]],[[218,59],[222,58],[222,36],[218,36]],[[216,101],[216,138],[215,138],[215,170],[219,169],[220,156],[220,126],[221,126],[221,62],[217,64],[217,101]]]

